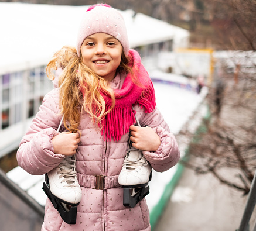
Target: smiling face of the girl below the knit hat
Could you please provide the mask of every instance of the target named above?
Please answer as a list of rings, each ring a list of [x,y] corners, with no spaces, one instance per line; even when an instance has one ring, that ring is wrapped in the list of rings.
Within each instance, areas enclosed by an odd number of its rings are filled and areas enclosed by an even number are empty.
[[[111,35],[95,33],[84,40],[81,55],[87,67],[105,80],[112,81],[120,65],[122,45]]]

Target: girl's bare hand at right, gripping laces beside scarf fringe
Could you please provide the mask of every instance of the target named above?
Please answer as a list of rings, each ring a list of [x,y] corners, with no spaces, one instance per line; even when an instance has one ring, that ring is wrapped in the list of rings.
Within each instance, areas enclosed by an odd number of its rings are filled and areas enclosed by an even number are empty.
[[[144,151],[158,150],[160,137],[151,127],[130,126],[132,146]]]

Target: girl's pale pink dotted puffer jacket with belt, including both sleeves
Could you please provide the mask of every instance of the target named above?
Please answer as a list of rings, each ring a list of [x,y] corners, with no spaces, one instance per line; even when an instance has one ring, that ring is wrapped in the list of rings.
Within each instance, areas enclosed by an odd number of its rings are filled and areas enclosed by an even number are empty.
[[[57,127],[62,119],[59,108],[59,89],[56,88],[43,99],[21,141],[17,152],[18,164],[30,174],[45,174],[65,157],[54,153],[52,145],[53,137],[59,134]],[[141,126],[149,125],[161,138],[159,149],[156,152],[144,151],[145,158],[156,171],[166,171],[175,166],[180,157],[178,144],[159,110],[145,113],[138,106],[134,109]],[[47,199],[42,230],[151,230],[145,198],[134,208],[125,208],[122,204],[123,189],[117,178],[126,154],[128,133],[119,141],[106,142],[101,132],[91,125],[91,119],[85,112],[81,115],[78,129],[81,142],[76,153],[76,170],[83,197],[77,207],[77,222],[75,225],[63,222]],[[95,175],[105,175],[103,190],[95,189]]]

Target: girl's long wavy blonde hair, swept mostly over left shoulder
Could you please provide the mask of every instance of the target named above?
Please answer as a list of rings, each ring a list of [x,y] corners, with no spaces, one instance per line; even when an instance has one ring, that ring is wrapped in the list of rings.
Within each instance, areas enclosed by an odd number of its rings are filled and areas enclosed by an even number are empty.
[[[128,62],[128,58],[122,55],[117,71],[132,72],[127,65]],[[114,91],[108,86],[108,81],[84,65],[74,47],[64,46],[54,54],[46,67],[46,74],[50,80],[54,80],[52,71],[57,68],[63,69],[59,76],[60,114],[64,116],[66,129],[79,132],[78,125],[82,109],[91,116],[93,123],[101,127],[101,120],[115,106]],[[111,98],[112,105],[108,111],[100,92]]]

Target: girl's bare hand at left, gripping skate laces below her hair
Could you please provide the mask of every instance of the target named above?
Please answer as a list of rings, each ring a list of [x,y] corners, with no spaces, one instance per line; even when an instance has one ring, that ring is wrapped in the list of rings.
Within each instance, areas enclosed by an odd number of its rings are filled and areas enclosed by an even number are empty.
[[[80,136],[78,133],[62,132],[52,139],[54,153],[72,156],[76,154],[79,142]]]

